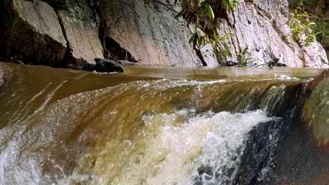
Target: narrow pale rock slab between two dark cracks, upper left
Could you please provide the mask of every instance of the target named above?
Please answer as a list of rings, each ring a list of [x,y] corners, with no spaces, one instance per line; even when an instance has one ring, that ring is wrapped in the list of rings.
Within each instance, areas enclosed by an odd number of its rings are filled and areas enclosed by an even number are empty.
[[[96,16],[88,0],[66,0],[65,7],[67,10],[58,10],[58,18],[68,42],[68,66],[89,70],[96,64],[96,57],[103,57]]]

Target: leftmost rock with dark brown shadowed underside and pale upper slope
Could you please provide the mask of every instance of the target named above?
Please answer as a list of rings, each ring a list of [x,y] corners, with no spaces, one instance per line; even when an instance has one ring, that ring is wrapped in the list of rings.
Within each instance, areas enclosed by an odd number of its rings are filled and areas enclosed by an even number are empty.
[[[56,12],[43,1],[0,1],[0,57],[56,65],[66,41]]]

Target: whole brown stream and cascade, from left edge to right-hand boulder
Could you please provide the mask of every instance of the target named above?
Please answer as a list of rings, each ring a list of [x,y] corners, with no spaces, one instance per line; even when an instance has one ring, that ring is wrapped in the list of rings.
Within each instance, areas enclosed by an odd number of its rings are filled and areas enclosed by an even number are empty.
[[[7,68],[0,184],[262,184],[309,81],[47,69],[30,89],[38,67]]]

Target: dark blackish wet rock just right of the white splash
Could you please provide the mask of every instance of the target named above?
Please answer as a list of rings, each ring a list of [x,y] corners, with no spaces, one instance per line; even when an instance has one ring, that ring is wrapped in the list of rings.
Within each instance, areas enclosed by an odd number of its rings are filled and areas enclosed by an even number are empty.
[[[233,184],[264,184],[280,137],[279,118],[257,125],[250,131]]]

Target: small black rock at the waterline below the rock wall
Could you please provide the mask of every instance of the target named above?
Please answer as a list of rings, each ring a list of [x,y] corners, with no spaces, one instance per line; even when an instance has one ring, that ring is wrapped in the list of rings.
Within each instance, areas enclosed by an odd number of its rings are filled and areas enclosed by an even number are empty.
[[[122,64],[116,62],[114,60],[107,60],[96,58],[95,59],[96,65],[93,70],[98,72],[123,72],[124,68]]]

